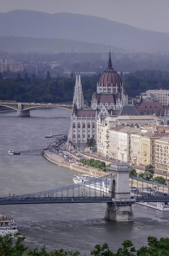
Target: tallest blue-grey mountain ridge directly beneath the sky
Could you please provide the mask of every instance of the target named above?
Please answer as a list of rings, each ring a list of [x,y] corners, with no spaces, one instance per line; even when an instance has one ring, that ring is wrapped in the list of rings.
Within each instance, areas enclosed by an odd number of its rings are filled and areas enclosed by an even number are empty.
[[[59,38],[132,51],[169,51],[169,33],[141,30],[95,16],[15,10],[1,12],[0,23],[3,37]]]

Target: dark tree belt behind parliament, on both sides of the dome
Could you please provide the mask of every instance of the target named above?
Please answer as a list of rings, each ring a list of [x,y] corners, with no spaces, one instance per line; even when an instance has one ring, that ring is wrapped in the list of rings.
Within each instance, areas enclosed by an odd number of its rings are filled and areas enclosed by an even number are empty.
[[[15,73],[16,75],[16,73]],[[27,73],[22,78],[3,79],[0,75],[0,100],[15,100],[20,102],[57,103],[72,101],[76,78],[36,78],[28,77]],[[85,100],[91,100],[92,94],[97,89],[99,75],[81,77],[83,95]],[[142,70],[121,75],[125,78],[125,88],[129,96],[135,97],[148,89],[169,89],[169,72],[157,70]],[[3,79],[3,80],[2,80]]]

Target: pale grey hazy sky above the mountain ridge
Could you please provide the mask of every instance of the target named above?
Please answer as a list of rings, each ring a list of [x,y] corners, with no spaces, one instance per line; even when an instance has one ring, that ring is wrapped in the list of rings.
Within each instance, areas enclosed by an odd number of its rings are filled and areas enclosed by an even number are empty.
[[[0,0],[0,11],[71,12],[169,33],[169,0]]]

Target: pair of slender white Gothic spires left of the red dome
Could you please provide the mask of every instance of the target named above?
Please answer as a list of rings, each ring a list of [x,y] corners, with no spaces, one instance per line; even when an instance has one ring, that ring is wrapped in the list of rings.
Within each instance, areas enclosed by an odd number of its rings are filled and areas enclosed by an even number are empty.
[[[76,105],[76,109],[82,109],[84,107],[80,73],[79,73],[79,77],[77,77],[76,75],[76,84],[75,84],[75,91],[73,96],[73,106],[75,105]]]

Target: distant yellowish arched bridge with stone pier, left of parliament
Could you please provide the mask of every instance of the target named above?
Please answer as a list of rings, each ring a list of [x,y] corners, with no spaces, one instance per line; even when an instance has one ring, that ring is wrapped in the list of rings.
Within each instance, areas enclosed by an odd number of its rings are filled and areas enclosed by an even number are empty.
[[[36,108],[62,108],[72,110],[70,104],[54,104],[54,103],[27,103],[27,102],[1,102],[0,106],[5,106],[17,110],[17,116],[30,116],[30,109]]]

